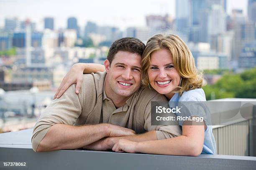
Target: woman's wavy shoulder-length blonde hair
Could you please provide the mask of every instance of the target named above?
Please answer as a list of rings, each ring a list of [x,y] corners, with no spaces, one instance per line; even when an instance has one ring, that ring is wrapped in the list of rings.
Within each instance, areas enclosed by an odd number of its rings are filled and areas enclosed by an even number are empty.
[[[187,45],[177,35],[164,35],[157,34],[151,37],[142,55],[142,84],[148,86],[148,67],[150,64],[151,54],[160,49],[166,49],[171,52],[174,68],[182,77],[181,85],[179,86],[180,95],[182,92],[201,88],[203,86],[202,73],[197,72],[195,61],[192,53],[188,49]],[[159,58],[159,60],[161,60]]]

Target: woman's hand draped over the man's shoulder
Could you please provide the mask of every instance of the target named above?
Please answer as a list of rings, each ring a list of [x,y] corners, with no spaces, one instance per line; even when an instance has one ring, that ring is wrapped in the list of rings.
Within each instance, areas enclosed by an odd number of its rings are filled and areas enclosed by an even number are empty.
[[[69,86],[74,83],[77,83],[75,87],[75,92],[79,94],[83,80],[84,67],[85,66],[83,63],[77,63],[70,68],[67,75],[65,75],[65,77],[61,81],[61,84],[59,85],[54,95],[54,99],[61,97],[61,95],[63,95],[63,93],[69,88]]]

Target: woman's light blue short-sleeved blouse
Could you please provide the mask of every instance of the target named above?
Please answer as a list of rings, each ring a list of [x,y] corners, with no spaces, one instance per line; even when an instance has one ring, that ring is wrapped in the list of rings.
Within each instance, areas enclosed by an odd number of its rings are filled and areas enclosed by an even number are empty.
[[[180,96],[179,93],[175,93],[174,96],[171,98],[169,101],[169,107],[173,107],[174,102],[185,102],[185,101],[206,101],[205,99],[205,92],[202,89],[195,89],[195,90],[189,90],[185,91],[182,93]],[[176,113],[177,116],[179,113]],[[193,115],[190,116],[199,116],[201,117],[202,115],[200,113],[193,113]],[[179,125],[182,126],[183,121],[179,121]],[[202,154],[216,154],[216,143],[215,139],[212,133],[212,126],[207,124],[207,128],[205,130],[205,140],[204,140],[204,145],[202,149]]]

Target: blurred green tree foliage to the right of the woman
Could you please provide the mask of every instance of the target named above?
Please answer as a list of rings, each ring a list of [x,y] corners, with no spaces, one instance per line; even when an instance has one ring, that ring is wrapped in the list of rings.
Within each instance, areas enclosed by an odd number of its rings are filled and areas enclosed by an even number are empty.
[[[256,68],[241,74],[224,74],[214,85],[203,87],[207,100],[220,98],[256,98]]]

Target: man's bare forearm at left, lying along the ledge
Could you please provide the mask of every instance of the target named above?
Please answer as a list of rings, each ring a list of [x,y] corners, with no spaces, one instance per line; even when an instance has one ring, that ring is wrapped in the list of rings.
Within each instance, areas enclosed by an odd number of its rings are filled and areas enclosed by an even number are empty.
[[[106,129],[105,124],[85,126],[56,124],[48,130],[36,151],[82,148],[106,137],[108,135]]]

